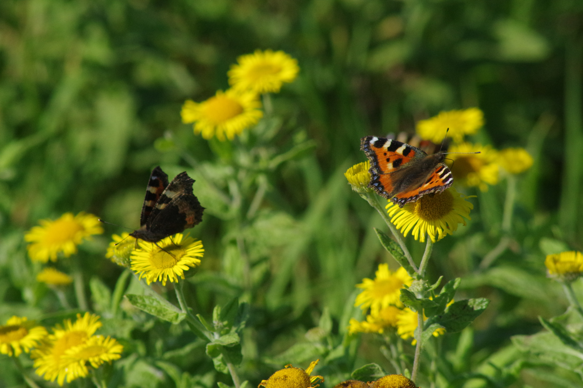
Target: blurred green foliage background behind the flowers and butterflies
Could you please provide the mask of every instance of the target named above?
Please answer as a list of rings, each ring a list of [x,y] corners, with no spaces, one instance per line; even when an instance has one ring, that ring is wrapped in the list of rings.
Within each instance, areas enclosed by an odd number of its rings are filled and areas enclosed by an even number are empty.
[[[229,149],[194,137],[179,112],[185,99],[226,89],[229,65],[256,48],[285,50],[301,74],[273,97],[278,117],[265,125],[276,135],[247,141],[279,153],[306,146],[241,179],[247,205],[250,188],[265,188],[261,206],[246,218],[217,197],[240,178],[230,166],[253,167],[241,161],[240,143]],[[354,285],[378,262],[396,265],[374,232],[382,219],[342,173],[364,160],[364,135],[413,132],[416,121],[440,110],[479,106],[486,130],[475,141],[524,146],[535,165],[519,181],[510,249],[491,268],[480,271],[479,263],[500,240],[504,184],[480,193],[469,225],[434,247],[433,279],[462,277],[462,296],[492,301],[473,328],[428,349],[444,355],[435,366],[438,386],[462,386],[472,373],[490,380],[463,386],[583,386],[572,372],[581,362],[562,348],[563,369],[532,353],[518,356],[534,341],[525,336],[542,330],[538,316],[557,316],[567,306],[560,287],[545,278],[545,254],[583,249],[582,71],[583,3],[575,0],[3,0],[2,322],[12,314],[47,324],[60,318],[55,300],[31,278],[25,230],[66,211],[136,228],[147,177],[161,165],[170,176],[186,169],[207,208],[191,232],[206,248],[202,270],[189,279],[192,302],[208,317],[235,296],[251,303],[244,379],[257,384],[285,363],[305,367],[315,358],[323,359],[316,372],[327,387],[367,362],[390,370],[366,336],[344,343],[346,352],[340,346],[358,310]],[[97,274],[113,289],[121,274],[100,258],[114,232],[82,246],[88,287]],[[237,248],[241,238],[248,267]],[[408,243],[420,257],[423,244]],[[132,287],[138,285],[128,293]],[[580,284],[575,292],[583,295]],[[110,334],[125,338],[134,354],[120,361],[125,377],[117,384],[230,384],[183,327],[141,312],[124,324],[125,334],[119,325]],[[519,336],[511,342],[512,335]],[[539,342],[542,353],[554,346]],[[0,373],[0,386],[20,384],[16,372]]]

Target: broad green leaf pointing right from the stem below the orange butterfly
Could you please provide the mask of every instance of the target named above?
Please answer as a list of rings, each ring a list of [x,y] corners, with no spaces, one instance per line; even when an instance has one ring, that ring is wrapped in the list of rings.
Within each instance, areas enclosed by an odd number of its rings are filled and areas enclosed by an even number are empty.
[[[428,323],[438,323],[448,333],[457,333],[482,314],[488,303],[490,300],[486,298],[459,300],[447,307],[444,314],[431,317]]]

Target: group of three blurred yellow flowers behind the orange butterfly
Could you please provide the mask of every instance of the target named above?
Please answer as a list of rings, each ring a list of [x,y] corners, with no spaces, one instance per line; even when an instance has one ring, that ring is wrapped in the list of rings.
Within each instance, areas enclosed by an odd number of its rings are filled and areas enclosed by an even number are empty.
[[[442,111],[437,116],[417,123],[417,135],[424,140],[439,144],[446,136],[453,139],[448,158],[455,160],[452,166],[454,179],[465,186],[486,191],[488,185],[498,183],[500,167],[509,174],[519,174],[528,170],[533,163],[532,156],[524,148],[506,148],[496,151],[490,146],[472,144],[464,140],[465,135],[473,135],[484,125],[484,113],[478,108]]]

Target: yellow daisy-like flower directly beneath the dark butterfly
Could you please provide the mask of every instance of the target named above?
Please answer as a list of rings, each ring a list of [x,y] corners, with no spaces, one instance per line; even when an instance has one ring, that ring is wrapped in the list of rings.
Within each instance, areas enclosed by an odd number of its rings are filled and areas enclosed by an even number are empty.
[[[157,245],[156,245],[157,244]],[[132,271],[139,278],[146,278],[147,284],[166,280],[177,282],[184,279],[184,271],[201,263],[199,257],[205,251],[201,240],[177,233],[156,244],[138,240],[139,248],[132,252]]]

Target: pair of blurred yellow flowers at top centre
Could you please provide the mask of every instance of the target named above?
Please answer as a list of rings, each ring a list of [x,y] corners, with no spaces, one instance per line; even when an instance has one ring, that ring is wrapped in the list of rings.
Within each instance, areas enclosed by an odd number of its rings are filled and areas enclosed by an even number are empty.
[[[283,51],[241,55],[228,72],[231,88],[200,103],[187,100],[180,113],[182,123],[194,123],[194,133],[205,139],[233,140],[263,117],[259,95],[279,92],[299,71],[297,60]]]

